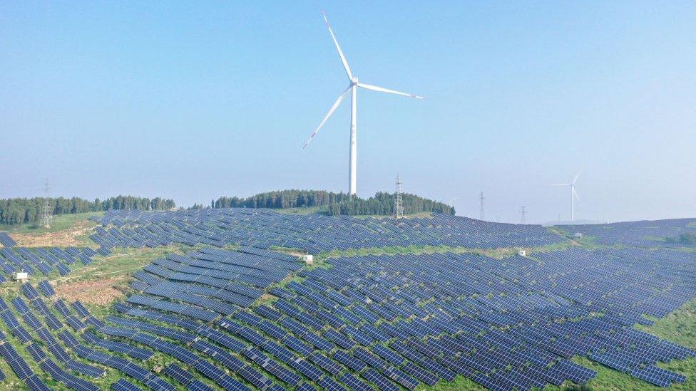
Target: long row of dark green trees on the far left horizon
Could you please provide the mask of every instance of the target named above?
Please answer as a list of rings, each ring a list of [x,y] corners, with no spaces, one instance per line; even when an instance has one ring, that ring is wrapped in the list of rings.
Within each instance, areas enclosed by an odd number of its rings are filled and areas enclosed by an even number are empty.
[[[98,198],[89,201],[78,197],[48,199],[48,209],[54,216],[111,209],[165,210],[175,207],[172,199],[160,197],[149,199],[120,195],[103,201]],[[34,224],[41,220],[43,209],[44,198],[42,197],[0,199],[0,224]]]

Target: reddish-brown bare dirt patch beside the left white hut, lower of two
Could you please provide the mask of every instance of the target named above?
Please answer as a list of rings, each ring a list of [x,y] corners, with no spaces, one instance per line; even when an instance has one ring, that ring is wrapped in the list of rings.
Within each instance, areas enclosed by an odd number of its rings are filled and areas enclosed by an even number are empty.
[[[68,302],[79,300],[85,304],[106,305],[123,298],[123,291],[118,290],[116,286],[125,280],[126,276],[119,276],[103,280],[62,283],[55,287],[55,291],[56,296]]]

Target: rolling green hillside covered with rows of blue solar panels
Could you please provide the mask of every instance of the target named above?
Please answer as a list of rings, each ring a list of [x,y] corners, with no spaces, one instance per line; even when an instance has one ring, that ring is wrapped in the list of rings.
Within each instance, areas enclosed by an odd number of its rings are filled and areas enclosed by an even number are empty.
[[[696,387],[696,219],[89,219],[81,246],[0,232],[0,390]]]

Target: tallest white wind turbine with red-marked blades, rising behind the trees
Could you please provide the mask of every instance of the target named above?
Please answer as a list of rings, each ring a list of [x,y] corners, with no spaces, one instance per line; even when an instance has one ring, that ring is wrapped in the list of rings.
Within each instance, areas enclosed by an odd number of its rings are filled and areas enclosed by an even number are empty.
[[[418,96],[418,95],[413,95],[413,94],[401,93],[399,91],[389,90],[387,88],[377,87],[377,85],[369,85],[369,84],[365,84],[365,83],[359,83],[358,78],[353,76],[353,74],[350,71],[350,67],[348,66],[348,61],[346,61],[346,57],[343,55],[343,52],[341,51],[341,47],[338,45],[338,41],[336,40],[336,36],[334,36],[334,31],[331,29],[331,25],[329,24],[329,19],[327,19],[326,14],[324,14],[324,22],[326,22],[327,28],[329,28],[329,33],[331,34],[331,38],[333,39],[334,44],[336,45],[338,55],[341,57],[341,62],[343,63],[343,68],[345,68],[346,74],[348,75],[349,84],[348,84],[348,87],[345,90],[343,90],[341,95],[338,95],[338,99],[334,102],[334,104],[329,109],[329,113],[327,113],[327,115],[324,115],[324,119],[322,120],[321,123],[319,123],[319,126],[317,126],[317,129],[314,130],[314,132],[312,132],[311,136],[309,136],[309,139],[307,140],[307,142],[305,142],[305,148],[307,148],[307,145],[309,145],[309,142],[312,142],[312,138],[314,138],[314,136],[317,135],[319,130],[322,129],[322,126],[324,126],[324,123],[327,122],[329,117],[334,113],[336,108],[338,108],[338,106],[341,104],[341,101],[346,97],[346,95],[350,91],[351,105],[350,105],[350,152],[349,152],[348,194],[354,195],[357,192],[357,190],[356,190],[356,185],[357,185],[357,154],[358,154],[358,147],[357,147],[357,88],[360,87],[360,88],[364,88],[366,90],[378,91],[380,93],[404,95],[404,96],[409,96],[409,97],[415,98],[415,99],[423,99],[423,97]]]

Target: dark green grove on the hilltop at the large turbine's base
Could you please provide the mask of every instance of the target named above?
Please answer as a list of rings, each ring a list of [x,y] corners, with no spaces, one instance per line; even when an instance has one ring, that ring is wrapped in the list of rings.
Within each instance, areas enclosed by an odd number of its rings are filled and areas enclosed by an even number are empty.
[[[401,194],[404,213],[436,212],[454,214],[454,208],[443,202],[418,197],[414,194]],[[394,214],[394,194],[379,192],[368,199],[349,197],[346,193],[332,193],[317,190],[281,190],[265,192],[251,197],[220,197],[210,202],[213,208],[270,208],[288,209],[302,207],[326,207],[326,213],[338,215],[381,215]],[[195,207],[203,207],[195,205]]]

